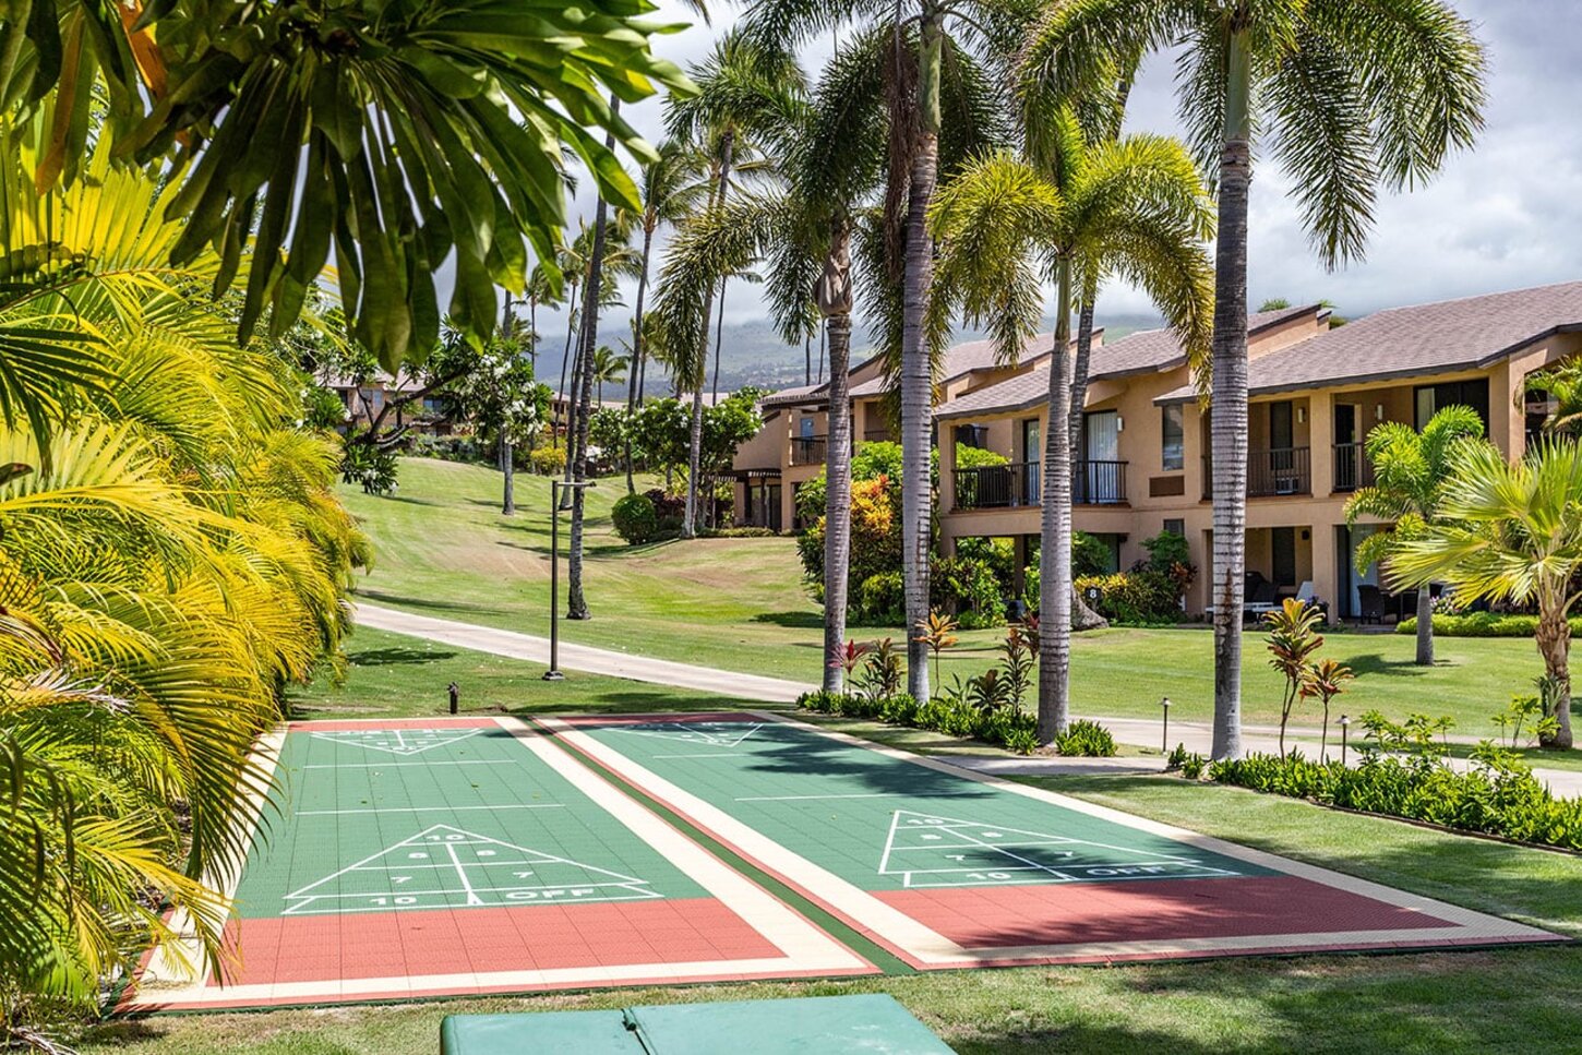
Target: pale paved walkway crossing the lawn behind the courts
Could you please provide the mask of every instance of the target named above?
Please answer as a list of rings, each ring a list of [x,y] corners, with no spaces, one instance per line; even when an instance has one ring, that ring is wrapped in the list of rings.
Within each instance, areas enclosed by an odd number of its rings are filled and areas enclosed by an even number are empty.
[[[373,604],[358,604],[358,623],[362,626],[373,626],[375,630],[388,630],[397,634],[437,641],[457,649],[471,649],[475,652],[487,652],[498,656],[509,656],[513,660],[527,660],[530,663],[549,663],[549,639],[536,637],[533,634],[519,634],[509,630],[494,630],[490,626],[462,623],[449,618],[435,618],[432,615],[414,615],[411,612],[400,612]],[[566,641],[560,642],[560,666],[568,671],[607,674],[611,677],[623,677],[633,682],[693,688],[701,693],[718,693],[721,696],[736,696],[739,699],[755,699],[769,704],[789,704],[794,702],[802,693],[818,688],[816,685],[805,682],[789,682],[777,677],[763,677],[759,674],[739,674],[736,671],[718,671],[715,667],[693,666],[690,663],[634,656],[625,652],[614,652],[611,649],[574,645]],[[1150,747],[1155,750],[1161,743],[1161,728],[1156,718],[1095,717],[1095,721],[1103,723],[1120,743]],[[1280,729],[1277,726],[1242,726],[1242,747],[1248,751],[1275,754],[1280,750],[1278,734]],[[1171,721],[1169,747],[1172,748],[1177,743],[1185,743],[1188,751],[1209,754],[1212,739],[1213,728],[1207,721]],[[1318,740],[1319,737],[1316,729],[1302,728],[1286,732],[1288,745],[1300,743],[1310,748],[1313,754],[1318,753]],[[1451,740],[1459,743],[1476,742],[1474,737],[1455,735],[1452,735]],[[1334,724],[1330,724],[1329,750],[1332,758],[1340,751],[1340,729]],[[1158,758],[1077,761],[1062,758],[1014,758],[1006,754],[968,753],[951,753],[943,758],[965,769],[997,773],[1001,777],[1096,772],[1141,773],[1160,772],[1164,767],[1164,762]],[[1356,751],[1348,754],[1348,761],[1356,758]],[[1446,761],[1454,769],[1460,770],[1470,769],[1471,766],[1465,759],[1459,758]],[[1557,796],[1582,796],[1582,770],[1535,769],[1533,775],[1547,783]]]

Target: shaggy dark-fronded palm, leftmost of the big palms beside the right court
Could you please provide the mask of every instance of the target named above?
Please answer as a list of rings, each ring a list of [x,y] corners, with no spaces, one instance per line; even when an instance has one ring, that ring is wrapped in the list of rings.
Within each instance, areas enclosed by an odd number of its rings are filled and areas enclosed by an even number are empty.
[[[851,546],[851,242],[883,179],[886,112],[875,90],[872,35],[837,51],[810,104],[766,130],[777,185],[682,225],[666,261],[660,310],[666,329],[691,340],[709,316],[707,289],[753,261],[766,264],[770,308],[788,342],[808,334],[810,310],[829,338],[829,424],[824,444],[823,683],[840,691]],[[872,231],[872,228],[869,229]],[[876,234],[881,239],[881,234]]]

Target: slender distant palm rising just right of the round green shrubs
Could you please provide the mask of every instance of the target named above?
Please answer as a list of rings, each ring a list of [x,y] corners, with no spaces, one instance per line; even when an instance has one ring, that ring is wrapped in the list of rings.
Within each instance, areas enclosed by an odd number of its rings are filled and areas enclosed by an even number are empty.
[[[671,96],[666,109],[666,127],[671,138],[698,144],[710,158],[713,187],[706,209],[721,209],[731,190],[732,164],[737,153],[753,146],[753,136],[767,123],[791,114],[804,93],[800,66],[789,51],[777,43],[750,40],[740,32],[729,32],[702,63],[691,66],[699,92],[691,96]],[[725,275],[715,278],[725,282]],[[720,286],[723,291],[723,286]],[[710,288],[704,296],[702,316],[713,316]],[[688,331],[690,332],[690,331]],[[688,446],[687,516],[682,535],[693,538],[698,531],[699,457],[702,451],[702,388],[707,381],[709,327],[698,334],[699,354],[691,381],[691,437]]]

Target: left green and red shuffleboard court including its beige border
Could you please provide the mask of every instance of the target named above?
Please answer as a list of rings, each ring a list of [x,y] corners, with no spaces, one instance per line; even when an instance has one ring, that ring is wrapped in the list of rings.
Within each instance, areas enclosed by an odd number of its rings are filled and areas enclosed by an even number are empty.
[[[144,965],[123,1009],[865,973],[514,718],[293,723],[234,884],[225,984]]]

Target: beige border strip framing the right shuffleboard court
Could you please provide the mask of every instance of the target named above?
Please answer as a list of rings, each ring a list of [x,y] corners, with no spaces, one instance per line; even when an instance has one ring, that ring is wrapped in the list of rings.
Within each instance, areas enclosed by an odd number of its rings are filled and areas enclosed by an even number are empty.
[[[1161,824],[1145,818],[1111,810],[1092,802],[1062,796],[1043,788],[1031,788],[1016,781],[967,770],[937,758],[913,754],[892,747],[884,747],[854,737],[846,732],[824,729],[786,715],[774,712],[742,712],[753,718],[774,721],[813,732],[816,735],[878,751],[888,758],[922,766],[952,777],[975,780],[1001,791],[1009,791],[1028,799],[1049,802],[1077,813],[1104,819],[1134,830],[1163,835],[1166,838],[1196,846],[1224,857],[1242,860],[1251,865],[1269,868],[1270,872],[1310,879],[1329,887],[1368,897],[1386,905],[1394,905],[1414,913],[1435,916],[1449,921],[1449,927],[1429,928],[1397,928],[1397,930],[1362,930],[1362,932],[1326,932],[1307,935],[1250,935],[1229,938],[1183,938],[1183,940],[1150,940],[1150,941],[1103,941],[1103,943],[1068,943],[1068,944],[1031,944],[1014,947],[962,947],[944,935],[925,927],[899,909],[889,906],[873,894],[834,875],[832,872],[807,860],[786,849],[756,829],[732,818],[729,813],[701,797],[683,791],[677,785],[653,773],[647,767],[631,761],[620,751],[606,747],[600,740],[581,732],[577,726],[560,718],[539,718],[539,724],[554,731],[568,745],[606,766],[611,772],[631,781],[647,794],[661,799],[690,821],[699,824],[712,835],[734,846],[747,857],[755,859],[770,872],[777,873],[793,886],[799,887],[813,900],[824,903],[846,922],[856,925],[891,949],[924,968],[979,966],[1009,962],[1055,962],[1055,960],[1090,960],[1090,959],[1144,959],[1144,957],[1183,957],[1209,955],[1226,952],[1259,952],[1259,951],[1326,951],[1337,946],[1345,947],[1417,947],[1417,946],[1465,946],[1495,944],[1520,941],[1561,941],[1563,938],[1536,927],[1489,916],[1473,909],[1436,902],[1429,897],[1410,894],[1356,876],[1348,876],[1329,868],[1302,864],[1289,857],[1237,846],[1210,835],[1202,835],[1171,824]]]

